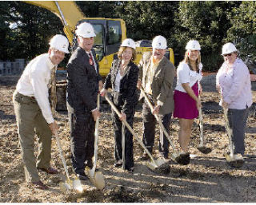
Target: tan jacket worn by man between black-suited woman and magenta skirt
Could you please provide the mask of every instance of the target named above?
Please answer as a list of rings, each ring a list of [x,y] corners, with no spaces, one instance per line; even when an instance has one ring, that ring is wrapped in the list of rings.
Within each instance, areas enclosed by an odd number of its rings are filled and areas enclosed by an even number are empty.
[[[138,64],[138,79],[142,81],[142,88],[144,88],[145,86],[147,69],[150,68],[151,55],[151,52],[144,53],[142,56],[142,60]],[[154,100],[161,101],[163,103],[159,111],[159,113],[162,115],[174,111],[174,94],[172,88],[174,82],[174,75],[174,65],[166,57],[163,57],[162,61],[160,61],[157,69],[154,72],[154,77],[151,84],[152,96]],[[139,99],[142,99],[142,93]],[[154,106],[155,105],[156,104],[154,104]]]

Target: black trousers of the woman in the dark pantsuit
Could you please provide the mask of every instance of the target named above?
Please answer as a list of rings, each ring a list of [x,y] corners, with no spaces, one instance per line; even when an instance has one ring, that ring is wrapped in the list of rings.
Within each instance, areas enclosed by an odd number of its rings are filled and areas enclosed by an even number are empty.
[[[119,103],[118,103],[119,102]],[[118,93],[114,93],[114,105],[118,108],[119,111],[122,109],[122,100],[118,101]],[[130,124],[130,127],[133,127],[134,124],[134,113],[135,113],[135,104],[133,108],[129,109],[129,112],[126,112],[126,121]],[[122,121],[119,120],[118,115],[112,109],[112,120],[113,120],[113,128],[114,128],[114,157],[115,160],[122,160]],[[133,168],[134,167],[134,141],[133,135],[130,131],[125,127],[124,128],[125,135],[125,168]]]

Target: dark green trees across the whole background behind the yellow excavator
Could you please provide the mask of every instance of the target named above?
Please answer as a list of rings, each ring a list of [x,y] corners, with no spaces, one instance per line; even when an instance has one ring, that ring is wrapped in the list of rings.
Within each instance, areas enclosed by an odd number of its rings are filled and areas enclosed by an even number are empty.
[[[186,42],[202,45],[204,70],[222,64],[222,45],[233,41],[242,57],[255,59],[256,2],[237,1],[82,1],[86,17],[122,18],[127,37],[135,41],[166,37],[174,49],[175,62],[182,61]],[[54,34],[63,34],[62,22],[50,11],[24,2],[0,4],[0,59],[31,59],[49,48]],[[66,61],[68,57],[66,57]]]

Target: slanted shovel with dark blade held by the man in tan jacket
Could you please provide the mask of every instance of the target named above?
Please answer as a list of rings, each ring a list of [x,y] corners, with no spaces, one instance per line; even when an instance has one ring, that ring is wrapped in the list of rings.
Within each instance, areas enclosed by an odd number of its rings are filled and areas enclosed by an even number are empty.
[[[143,96],[145,97],[146,103],[150,106],[151,112],[153,112],[154,107],[150,103],[149,98],[146,96],[146,93],[142,88],[141,88],[141,92],[142,92]],[[170,140],[170,136],[168,135],[168,132],[166,132],[166,128],[163,126],[162,120],[159,118],[159,116],[157,114],[154,114],[154,117],[158,120],[159,126],[162,129],[162,132],[165,134],[166,139],[170,142],[170,145],[173,148],[173,154],[172,154],[171,158],[174,161],[176,161],[178,164],[183,164],[183,165],[189,164],[190,162],[189,162],[188,157],[186,155],[181,155],[181,154],[178,154],[177,152],[175,152],[174,144]]]

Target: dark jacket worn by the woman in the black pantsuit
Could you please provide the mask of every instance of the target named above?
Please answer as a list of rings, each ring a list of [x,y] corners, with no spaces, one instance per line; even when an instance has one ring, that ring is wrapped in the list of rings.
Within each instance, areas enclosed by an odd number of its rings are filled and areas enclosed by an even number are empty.
[[[106,77],[104,89],[114,90],[114,82],[118,74],[118,69],[121,60],[114,60]],[[127,113],[130,109],[133,109],[138,102],[137,94],[137,81],[138,81],[138,66],[134,62],[130,61],[120,81],[121,101],[118,105],[122,106],[122,112]]]

